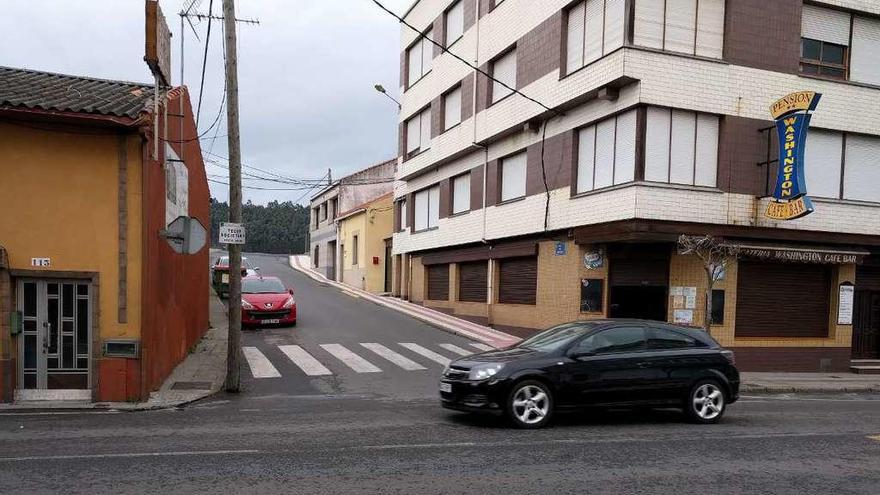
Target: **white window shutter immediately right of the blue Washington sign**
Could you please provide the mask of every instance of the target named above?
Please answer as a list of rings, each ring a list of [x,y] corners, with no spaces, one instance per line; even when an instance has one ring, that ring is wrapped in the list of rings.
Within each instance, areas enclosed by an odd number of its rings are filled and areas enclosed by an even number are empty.
[[[804,156],[804,181],[810,196],[840,197],[843,134],[810,129]]]

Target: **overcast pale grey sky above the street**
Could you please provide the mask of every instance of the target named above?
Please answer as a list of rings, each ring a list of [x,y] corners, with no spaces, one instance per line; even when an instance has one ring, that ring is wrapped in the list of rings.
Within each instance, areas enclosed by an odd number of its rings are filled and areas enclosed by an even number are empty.
[[[173,33],[173,84],[180,84],[180,17],[190,0],[160,0]],[[143,62],[143,0],[0,0],[0,65],[152,82]],[[210,0],[196,0],[207,12]],[[403,13],[412,0],[384,0]],[[220,15],[222,0],[214,0]],[[242,162],[295,178],[338,178],[397,151],[397,21],[371,0],[237,0]],[[195,22],[195,21],[194,21]],[[223,94],[221,23],[212,27],[200,132],[218,115]],[[198,100],[207,21],[185,28],[185,84]],[[195,110],[195,108],[193,109]],[[228,156],[226,117],[203,150]],[[210,132],[207,136],[213,136]],[[220,160],[222,162],[222,160]],[[224,169],[206,163],[209,174]],[[247,170],[247,169],[245,169]],[[219,177],[215,179],[224,180]],[[247,181],[245,185],[288,187]],[[227,187],[211,185],[225,200]],[[244,191],[245,200],[297,200],[304,191]]]

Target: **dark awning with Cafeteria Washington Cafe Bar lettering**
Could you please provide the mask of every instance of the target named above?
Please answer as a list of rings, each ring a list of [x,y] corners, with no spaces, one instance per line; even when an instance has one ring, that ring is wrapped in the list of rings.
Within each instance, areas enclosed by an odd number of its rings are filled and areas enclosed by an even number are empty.
[[[871,253],[862,249],[842,249],[833,246],[807,246],[759,242],[728,242],[740,248],[739,256],[746,259],[789,263],[819,263],[843,265],[861,264]]]

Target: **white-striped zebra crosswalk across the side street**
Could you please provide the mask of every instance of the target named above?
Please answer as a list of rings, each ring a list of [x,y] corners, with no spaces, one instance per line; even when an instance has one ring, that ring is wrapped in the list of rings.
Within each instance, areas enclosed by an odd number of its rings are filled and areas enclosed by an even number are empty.
[[[320,344],[307,350],[301,345],[277,345],[281,354],[296,365],[307,376],[328,376],[343,370],[355,373],[381,373],[388,369],[400,368],[405,371],[428,369],[426,365],[447,365],[452,359],[475,352],[492,350],[485,344],[472,342],[472,349],[455,344],[436,344],[437,351],[412,342],[398,342],[396,345],[383,345],[377,342],[362,342],[360,347],[342,344]],[[438,352],[439,351],[439,352]],[[450,353],[447,357],[440,352]],[[253,346],[242,347],[242,354],[254,378],[280,378],[278,368],[260,349]],[[276,363],[277,364],[277,363]],[[334,371],[335,370],[335,371]]]

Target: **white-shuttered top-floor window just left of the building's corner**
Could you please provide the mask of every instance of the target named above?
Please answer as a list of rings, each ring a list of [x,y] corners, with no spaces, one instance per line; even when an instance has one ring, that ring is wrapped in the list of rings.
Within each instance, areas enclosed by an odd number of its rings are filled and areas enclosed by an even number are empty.
[[[624,0],[586,0],[569,9],[567,74],[623,46],[625,6]]]

